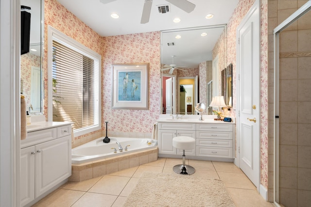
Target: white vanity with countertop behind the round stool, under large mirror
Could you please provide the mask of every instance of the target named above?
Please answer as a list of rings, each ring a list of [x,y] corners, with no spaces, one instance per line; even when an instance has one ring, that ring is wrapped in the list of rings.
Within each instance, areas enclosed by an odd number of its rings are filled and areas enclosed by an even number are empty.
[[[162,116],[158,122],[159,157],[180,158],[182,149],[173,147],[173,138],[192,137],[196,147],[185,150],[190,159],[233,162],[235,152],[235,122],[214,121],[214,116],[207,116],[199,121],[199,116],[190,115],[183,119]]]

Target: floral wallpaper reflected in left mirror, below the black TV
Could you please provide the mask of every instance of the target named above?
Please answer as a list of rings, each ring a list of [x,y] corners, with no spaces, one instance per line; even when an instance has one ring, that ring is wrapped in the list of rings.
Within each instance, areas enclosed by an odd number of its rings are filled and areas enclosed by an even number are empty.
[[[26,53],[20,56],[20,80],[22,81],[22,91],[26,99],[26,108],[30,106],[30,92],[31,92],[31,67],[40,68],[40,56]]]

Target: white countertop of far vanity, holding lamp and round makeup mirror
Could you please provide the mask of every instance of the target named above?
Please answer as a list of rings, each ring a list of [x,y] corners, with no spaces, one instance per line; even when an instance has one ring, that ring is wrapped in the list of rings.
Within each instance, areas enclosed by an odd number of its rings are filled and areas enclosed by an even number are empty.
[[[235,119],[232,118],[232,122],[226,122],[226,121],[216,121],[214,120],[217,118],[217,116],[213,115],[203,115],[203,121],[200,121],[199,118],[201,115],[185,115],[180,119],[175,118],[176,115],[174,115],[174,119],[170,115],[160,115],[157,122],[173,122],[173,123],[222,123],[222,124],[235,124]]]

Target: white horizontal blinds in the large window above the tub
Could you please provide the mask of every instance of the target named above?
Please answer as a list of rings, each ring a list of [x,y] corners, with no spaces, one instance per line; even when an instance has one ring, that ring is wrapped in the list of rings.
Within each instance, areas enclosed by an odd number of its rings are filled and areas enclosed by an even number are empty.
[[[71,121],[74,130],[99,123],[98,61],[52,41],[53,121]]]

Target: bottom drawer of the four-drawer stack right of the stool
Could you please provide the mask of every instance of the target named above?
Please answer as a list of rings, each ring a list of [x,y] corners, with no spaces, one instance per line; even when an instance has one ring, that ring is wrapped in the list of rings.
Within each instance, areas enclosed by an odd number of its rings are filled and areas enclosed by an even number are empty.
[[[225,147],[196,147],[197,156],[233,158],[232,148]]]

